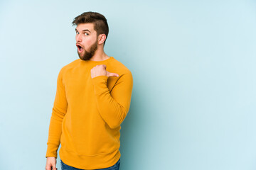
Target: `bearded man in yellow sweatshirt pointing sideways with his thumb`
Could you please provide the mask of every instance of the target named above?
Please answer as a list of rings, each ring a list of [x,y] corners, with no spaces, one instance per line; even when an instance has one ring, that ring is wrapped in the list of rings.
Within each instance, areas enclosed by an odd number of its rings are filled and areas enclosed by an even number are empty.
[[[108,35],[105,16],[86,12],[74,18],[80,59],[58,74],[50,118],[46,170],[119,169],[121,123],[132,97],[132,73],[103,50]]]

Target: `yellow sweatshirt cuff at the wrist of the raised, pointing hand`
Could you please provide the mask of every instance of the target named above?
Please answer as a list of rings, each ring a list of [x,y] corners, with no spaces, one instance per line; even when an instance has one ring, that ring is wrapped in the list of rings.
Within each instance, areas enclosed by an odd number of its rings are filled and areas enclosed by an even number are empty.
[[[98,76],[92,78],[92,84],[94,86],[95,95],[104,93],[107,89],[107,76]]]

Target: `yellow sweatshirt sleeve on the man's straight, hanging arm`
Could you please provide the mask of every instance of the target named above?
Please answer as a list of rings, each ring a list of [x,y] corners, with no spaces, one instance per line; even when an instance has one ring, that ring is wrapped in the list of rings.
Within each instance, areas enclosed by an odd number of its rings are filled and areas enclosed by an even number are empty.
[[[57,79],[57,90],[55,101],[53,103],[52,115],[50,118],[46,157],[57,158],[57,151],[60,145],[60,135],[62,132],[61,126],[68,108],[68,102],[65,96],[65,88],[63,86],[62,71],[63,69],[60,70]]]

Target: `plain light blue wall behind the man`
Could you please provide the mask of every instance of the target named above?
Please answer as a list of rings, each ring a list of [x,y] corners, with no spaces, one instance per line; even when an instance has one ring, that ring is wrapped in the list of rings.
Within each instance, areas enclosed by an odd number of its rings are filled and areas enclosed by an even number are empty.
[[[0,1],[0,169],[45,169],[73,18],[104,14],[134,77],[121,169],[256,169],[255,1]],[[60,159],[58,157],[58,169]]]

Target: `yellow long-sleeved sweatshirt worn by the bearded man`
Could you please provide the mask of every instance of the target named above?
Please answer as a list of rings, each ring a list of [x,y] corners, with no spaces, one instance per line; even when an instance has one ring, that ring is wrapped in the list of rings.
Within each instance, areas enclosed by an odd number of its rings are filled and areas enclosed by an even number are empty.
[[[105,64],[119,77],[91,78],[90,70]],[[132,97],[132,73],[110,57],[103,61],[75,60],[58,74],[50,118],[46,157],[78,169],[103,169],[121,157],[120,129]]]

